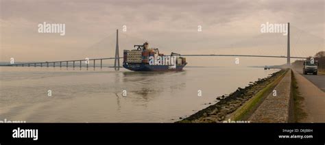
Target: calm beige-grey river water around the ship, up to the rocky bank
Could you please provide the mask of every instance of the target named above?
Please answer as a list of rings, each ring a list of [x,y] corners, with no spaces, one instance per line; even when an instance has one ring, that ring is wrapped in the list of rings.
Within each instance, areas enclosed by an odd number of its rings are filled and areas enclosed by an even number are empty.
[[[0,120],[26,122],[175,122],[215,103],[217,96],[278,71],[248,67],[185,67],[181,72],[0,69]]]

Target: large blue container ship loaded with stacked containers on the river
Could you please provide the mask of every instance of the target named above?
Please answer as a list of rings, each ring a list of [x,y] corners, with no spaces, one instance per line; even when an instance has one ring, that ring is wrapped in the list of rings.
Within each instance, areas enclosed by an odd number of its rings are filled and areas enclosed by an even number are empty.
[[[123,67],[134,71],[180,71],[186,66],[186,58],[178,53],[164,55],[158,49],[149,49],[148,42],[123,50]]]

